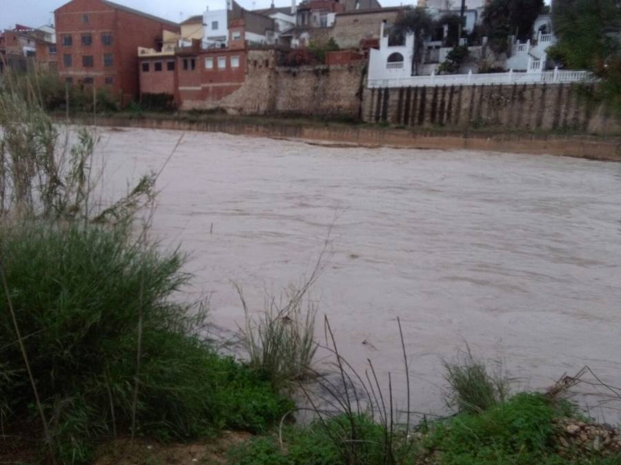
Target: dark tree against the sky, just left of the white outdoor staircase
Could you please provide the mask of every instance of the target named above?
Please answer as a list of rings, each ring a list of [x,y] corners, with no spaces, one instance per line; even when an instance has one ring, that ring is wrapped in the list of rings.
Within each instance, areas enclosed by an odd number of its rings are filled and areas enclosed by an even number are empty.
[[[526,40],[531,36],[535,19],[544,8],[544,0],[492,0],[483,12],[483,26],[493,50],[506,50],[506,39],[515,35]]]

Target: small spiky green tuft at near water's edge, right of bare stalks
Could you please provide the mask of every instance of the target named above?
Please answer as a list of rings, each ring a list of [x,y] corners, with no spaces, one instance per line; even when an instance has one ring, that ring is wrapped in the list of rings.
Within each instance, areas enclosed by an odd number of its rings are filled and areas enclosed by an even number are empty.
[[[477,413],[502,402],[509,393],[509,379],[499,366],[489,373],[484,362],[473,357],[470,349],[455,362],[444,361],[444,378],[449,383],[446,403],[460,412]]]

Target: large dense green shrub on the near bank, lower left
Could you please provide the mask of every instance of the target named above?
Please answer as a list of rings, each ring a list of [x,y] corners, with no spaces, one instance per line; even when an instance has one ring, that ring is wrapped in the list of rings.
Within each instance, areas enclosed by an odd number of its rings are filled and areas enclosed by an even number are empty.
[[[133,433],[186,440],[224,426],[263,431],[290,409],[268,381],[210,349],[203,309],[170,298],[189,278],[179,251],[130,242],[120,228],[26,223],[2,233],[8,293],[63,463],[88,462],[91,444],[128,431],[134,413]],[[36,417],[5,292],[6,429]]]

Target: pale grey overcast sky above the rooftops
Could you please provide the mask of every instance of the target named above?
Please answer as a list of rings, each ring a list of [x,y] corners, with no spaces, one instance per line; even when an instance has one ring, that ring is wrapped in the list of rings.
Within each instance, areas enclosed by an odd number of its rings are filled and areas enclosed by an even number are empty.
[[[156,16],[177,21],[201,14],[206,6],[224,8],[225,0],[112,0]],[[299,1],[299,0],[298,0]],[[38,28],[54,21],[54,10],[67,0],[0,0],[0,28],[12,28],[15,23]],[[237,0],[244,8],[266,8],[270,0]],[[383,6],[413,3],[413,1],[380,0]],[[275,0],[276,6],[289,6],[290,0]]]

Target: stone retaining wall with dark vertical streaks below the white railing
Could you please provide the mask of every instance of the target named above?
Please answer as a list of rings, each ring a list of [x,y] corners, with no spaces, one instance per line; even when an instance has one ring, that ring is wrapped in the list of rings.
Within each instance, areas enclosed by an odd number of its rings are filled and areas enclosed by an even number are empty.
[[[621,134],[621,116],[577,85],[365,89],[362,118],[411,127]]]

